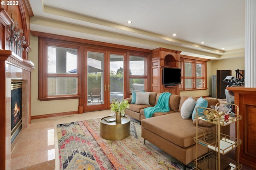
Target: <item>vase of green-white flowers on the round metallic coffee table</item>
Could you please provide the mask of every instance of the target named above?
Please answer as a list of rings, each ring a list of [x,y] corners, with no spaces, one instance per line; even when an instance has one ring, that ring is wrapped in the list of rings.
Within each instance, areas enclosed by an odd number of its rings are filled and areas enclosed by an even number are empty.
[[[113,99],[110,107],[110,110],[115,113],[116,123],[121,123],[122,116],[125,114],[125,109],[129,108],[128,100],[122,100],[122,102],[118,102],[117,99]]]

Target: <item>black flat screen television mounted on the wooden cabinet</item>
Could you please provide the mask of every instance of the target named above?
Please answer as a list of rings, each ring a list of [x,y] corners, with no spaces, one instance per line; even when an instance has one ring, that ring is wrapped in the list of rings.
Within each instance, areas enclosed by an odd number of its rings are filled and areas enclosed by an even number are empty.
[[[180,68],[163,67],[163,84],[175,86],[180,84]]]

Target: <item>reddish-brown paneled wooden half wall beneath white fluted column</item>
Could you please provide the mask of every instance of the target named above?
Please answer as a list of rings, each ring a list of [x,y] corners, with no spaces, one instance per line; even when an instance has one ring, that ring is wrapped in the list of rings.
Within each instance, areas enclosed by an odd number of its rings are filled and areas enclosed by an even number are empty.
[[[239,107],[239,162],[256,169],[256,88],[228,87],[234,92],[235,104]]]

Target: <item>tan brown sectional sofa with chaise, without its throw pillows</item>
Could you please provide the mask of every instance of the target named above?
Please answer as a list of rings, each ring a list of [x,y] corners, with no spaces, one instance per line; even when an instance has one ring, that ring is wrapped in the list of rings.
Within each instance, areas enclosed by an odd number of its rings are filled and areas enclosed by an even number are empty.
[[[188,96],[178,96],[172,94],[169,98],[170,111],[167,113],[154,113],[153,117],[145,119],[144,108],[155,106],[160,93],[150,92],[149,104],[150,105],[138,105],[130,104],[130,107],[126,109],[126,115],[133,117],[141,121],[142,137],[144,141],[147,140],[150,143],[156,145],[166,153],[170,154],[174,158],[180,160],[186,165],[196,159],[196,143],[193,137],[196,136],[196,125],[192,118],[183,119],[180,113],[182,104],[186,101]],[[198,98],[193,98],[198,100]],[[131,102],[131,98],[127,99]],[[208,101],[208,107],[216,105],[219,100],[206,99]],[[200,124],[198,125],[198,135],[209,131],[215,131],[215,126],[212,124]],[[230,134],[230,127],[222,127],[221,133]],[[201,156],[208,152],[206,147],[198,145],[198,156]]]

